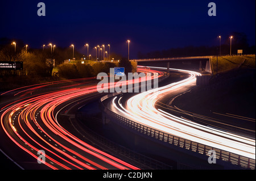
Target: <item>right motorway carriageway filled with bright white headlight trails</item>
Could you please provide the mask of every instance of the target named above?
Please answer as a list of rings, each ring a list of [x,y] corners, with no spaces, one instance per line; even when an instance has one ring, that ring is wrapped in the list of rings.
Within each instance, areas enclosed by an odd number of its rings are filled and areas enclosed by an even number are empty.
[[[164,133],[255,159],[255,138],[198,124],[156,108],[155,104],[160,98],[168,94],[179,95],[191,89],[196,85],[196,76],[200,75],[195,71],[171,70],[187,73],[189,77],[158,89],[142,92],[127,100],[122,100],[122,96],[114,96],[109,109],[127,119]]]

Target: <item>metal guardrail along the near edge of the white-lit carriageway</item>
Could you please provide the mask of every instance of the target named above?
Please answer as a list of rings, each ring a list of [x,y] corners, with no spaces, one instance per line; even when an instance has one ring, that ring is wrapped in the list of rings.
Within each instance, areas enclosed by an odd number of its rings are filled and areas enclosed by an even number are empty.
[[[102,101],[105,99],[106,97],[102,99]],[[104,106],[103,103],[102,103],[102,106]],[[214,150],[216,151],[217,159],[221,159],[222,161],[226,161],[226,162],[232,163],[233,165],[240,166],[243,169],[251,169],[251,170],[255,169],[255,159],[243,157],[241,155],[230,153],[228,151],[224,151],[221,149],[212,148],[210,146],[203,145],[198,142],[185,140],[184,138],[180,138],[172,134],[164,133],[154,128],[146,127],[145,125],[136,123],[135,121],[131,121],[126,117],[123,117],[113,111],[110,111],[105,106],[104,106],[104,112],[107,113],[110,117],[113,117],[114,119],[118,120],[119,123],[133,129],[134,131],[138,131],[140,133],[146,134],[147,136],[154,137],[160,141],[167,142],[168,144],[179,146],[180,148],[191,150],[196,153],[200,153],[204,155],[208,155],[209,150]]]

